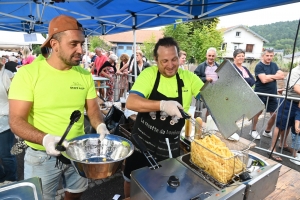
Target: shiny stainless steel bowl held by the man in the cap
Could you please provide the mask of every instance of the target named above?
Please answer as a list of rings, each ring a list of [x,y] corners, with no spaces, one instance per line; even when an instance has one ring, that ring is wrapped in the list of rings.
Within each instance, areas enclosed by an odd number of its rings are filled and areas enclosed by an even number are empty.
[[[109,134],[100,142],[98,134],[85,134],[70,140],[62,155],[80,176],[102,179],[113,175],[133,150],[133,144],[123,137]]]

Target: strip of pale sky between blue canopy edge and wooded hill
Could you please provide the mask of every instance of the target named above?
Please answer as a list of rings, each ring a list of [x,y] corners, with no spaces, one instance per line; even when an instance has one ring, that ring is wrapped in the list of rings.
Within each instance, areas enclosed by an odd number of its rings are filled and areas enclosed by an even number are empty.
[[[220,18],[219,28],[236,25],[263,25],[280,21],[293,21],[300,19],[300,3],[277,6],[256,11],[227,15]]]

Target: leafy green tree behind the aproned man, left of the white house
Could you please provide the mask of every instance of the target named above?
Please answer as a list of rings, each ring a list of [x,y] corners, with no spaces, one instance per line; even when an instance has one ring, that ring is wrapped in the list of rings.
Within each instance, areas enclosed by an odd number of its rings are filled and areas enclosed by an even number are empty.
[[[218,49],[223,42],[223,34],[216,29],[219,19],[194,21],[166,26],[165,36],[173,37],[181,50],[187,53],[187,60],[200,63],[206,60],[209,47]]]

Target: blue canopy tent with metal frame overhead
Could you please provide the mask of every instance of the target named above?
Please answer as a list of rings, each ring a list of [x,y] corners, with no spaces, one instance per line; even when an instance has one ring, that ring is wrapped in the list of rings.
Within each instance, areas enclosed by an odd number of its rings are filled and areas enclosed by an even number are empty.
[[[133,30],[135,43],[136,29],[296,2],[300,0],[0,0],[0,30],[47,33],[50,20],[65,14],[76,18],[86,35]]]

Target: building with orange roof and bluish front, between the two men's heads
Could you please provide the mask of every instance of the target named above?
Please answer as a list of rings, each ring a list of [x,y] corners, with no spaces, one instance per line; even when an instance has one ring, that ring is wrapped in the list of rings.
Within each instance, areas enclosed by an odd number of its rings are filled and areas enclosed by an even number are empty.
[[[155,37],[155,42],[157,42],[160,38],[163,37],[163,31],[161,30],[136,30],[136,44],[143,44],[145,41],[151,39],[152,36]],[[113,46],[113,51],[116,53],[118,57],[122,53],[126,53],[128,55],[132,54],[133,51],[133,32],[127,31],[124,33],[117,33],[112,35],[102,35],[100,39],[109,42]]]

